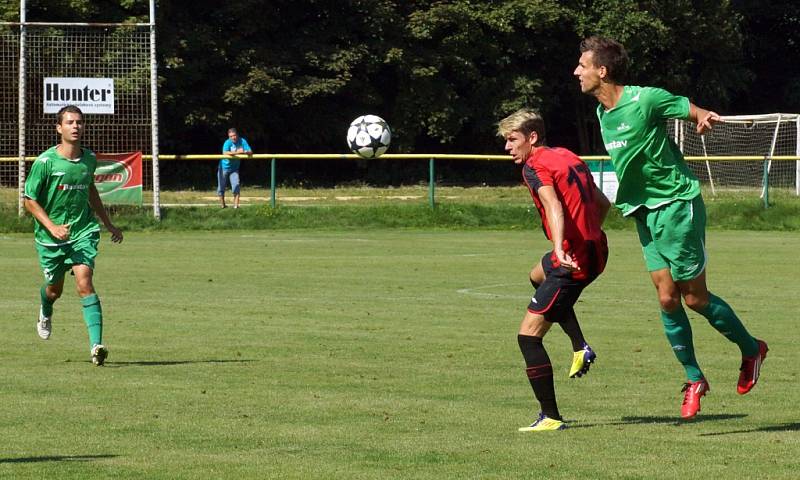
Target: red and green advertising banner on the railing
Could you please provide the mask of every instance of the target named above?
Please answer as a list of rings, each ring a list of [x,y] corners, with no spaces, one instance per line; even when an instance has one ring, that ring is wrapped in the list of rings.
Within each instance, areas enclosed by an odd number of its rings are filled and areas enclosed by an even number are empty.
[[[142,152],[98,153],[94,184],[103,203],[142,206]]]

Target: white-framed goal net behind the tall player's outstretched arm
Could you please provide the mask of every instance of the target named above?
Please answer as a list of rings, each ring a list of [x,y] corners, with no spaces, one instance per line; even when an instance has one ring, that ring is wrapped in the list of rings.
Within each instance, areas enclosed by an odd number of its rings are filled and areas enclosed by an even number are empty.
[[[707,134],[685,120],[668,130],[697,177],[712,194],[777,188],[800,195],[800,115],[724,116]],[[767,184],[764,184],[765,172]]]

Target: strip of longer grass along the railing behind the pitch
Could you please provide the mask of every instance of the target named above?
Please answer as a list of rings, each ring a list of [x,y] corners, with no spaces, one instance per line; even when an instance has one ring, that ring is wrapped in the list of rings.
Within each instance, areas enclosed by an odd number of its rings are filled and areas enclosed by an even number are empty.
[[[538,215],[524,186],[442,187],[431,208],[424,186],[400,188],[347,187],[333,189],[280,189],[277,208],[271,208],[269,191],[246,192],[243,208],[219,208],[213,192],[165,191],[161,220],[151,206],[110,206],[114,223],[131,231],[190,230],[374,230],[495,229],[538,230]],[[30,215],[19,217],[15,189],[0,188],[0,234],[29,233]],[[247,197],[247,195],[253,195]],[[704,194],[708,228],[712,230],[762,230],[800,232],[800,197],[773,192],[765,209],[757,192]],[[289,201],[288,199],[293,199]],[[175,206],[181,205],[181,206]],[[633,230],[634,224],[613,209],[606,230]]]

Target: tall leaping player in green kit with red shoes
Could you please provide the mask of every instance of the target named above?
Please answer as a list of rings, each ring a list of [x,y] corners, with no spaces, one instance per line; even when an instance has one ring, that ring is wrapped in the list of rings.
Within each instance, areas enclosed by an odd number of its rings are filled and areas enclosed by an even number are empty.
[[[767,344],[753,338],[733,309],[706,286],[705,222],[700,183],[667,135],[668,119],[688,119],[703,134],[717,113],[686,97],[652,87],[624,85],[628,55],[618,42],[589,37],[575,69],[581,91],[597,98],[597,117],[619,187],[616,206],[636,221],[647,270],[658,292],[661,320],[672,350],[686,370],[681,416],[693,418],[709,391],[697,363],[686,306],[703,315],[742,354],[737,391],[758,381]]]

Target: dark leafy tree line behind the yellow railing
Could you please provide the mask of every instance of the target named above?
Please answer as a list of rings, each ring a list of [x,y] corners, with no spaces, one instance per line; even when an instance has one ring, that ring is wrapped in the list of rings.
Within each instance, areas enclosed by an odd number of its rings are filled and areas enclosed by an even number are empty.
[[[147,3],[28,0],[27,16],[147,21]],[[257,152],[344,152],[350,120],[374,113],[391,152],[499,153],[497,120],[527,106],[550,144],[602,154],[572,76],[592,34],[626,45],[630,84],[722,114],[800,111],[792,0],[161,0],[161,151],[216,152],[236,126]]]

